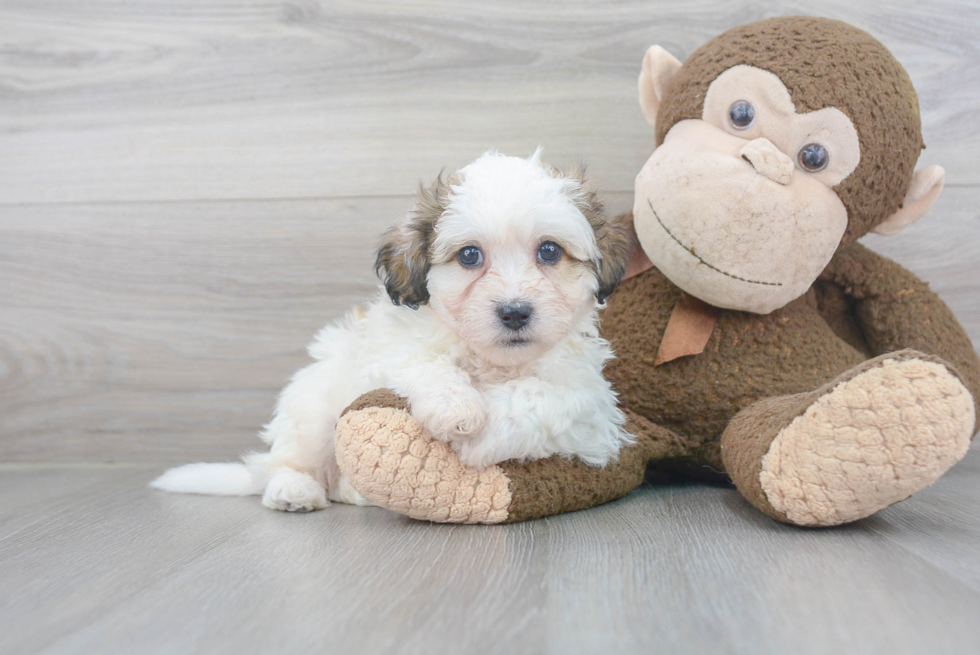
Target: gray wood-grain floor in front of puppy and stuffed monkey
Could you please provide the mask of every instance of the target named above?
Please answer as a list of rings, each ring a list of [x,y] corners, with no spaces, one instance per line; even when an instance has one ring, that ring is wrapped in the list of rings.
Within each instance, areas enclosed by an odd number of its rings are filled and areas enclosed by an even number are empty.
[[[980,653],[980,452],[842,528],[645,486],[507,526],[0,467],[4,653]],[[369,545],[369,546],[368,546]]]

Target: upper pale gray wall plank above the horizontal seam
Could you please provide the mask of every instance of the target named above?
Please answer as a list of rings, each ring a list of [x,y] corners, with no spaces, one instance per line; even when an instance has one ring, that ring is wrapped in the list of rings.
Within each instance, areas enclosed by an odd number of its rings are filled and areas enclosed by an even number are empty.
[[[490,147],[587,158],[626,191],[653,145],[646,48],[774,15],[867,29],[980,182],[976,3],[879,0],[0,2],[0,203],[406,194]]]

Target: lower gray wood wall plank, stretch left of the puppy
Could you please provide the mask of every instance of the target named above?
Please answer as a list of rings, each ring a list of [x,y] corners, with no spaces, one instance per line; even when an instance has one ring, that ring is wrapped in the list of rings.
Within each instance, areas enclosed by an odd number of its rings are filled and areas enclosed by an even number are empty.
[[[229,457],[410,198],[9,208],[0,461]],[[150,445],[155,444],[155,445]],[[169,445],[167,445],[169,444]]]

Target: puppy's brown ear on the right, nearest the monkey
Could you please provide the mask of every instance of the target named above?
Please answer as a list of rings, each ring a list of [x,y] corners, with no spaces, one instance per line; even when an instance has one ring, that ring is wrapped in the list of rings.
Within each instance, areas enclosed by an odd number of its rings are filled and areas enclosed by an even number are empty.
[[[596,298],[602,303],[615,291],[616,285],[626,272],[626,264],[634,248],[632,222],[623,220],[622,216],[606,218],[605,210],[596,192],[587,186],[584,166],[572,169],[571,176],[582,185],[578,208],[592,226],[596,246],[599,248],[599,257],[592,262],[592,265],[595,268],[596,279],[599,281]]]

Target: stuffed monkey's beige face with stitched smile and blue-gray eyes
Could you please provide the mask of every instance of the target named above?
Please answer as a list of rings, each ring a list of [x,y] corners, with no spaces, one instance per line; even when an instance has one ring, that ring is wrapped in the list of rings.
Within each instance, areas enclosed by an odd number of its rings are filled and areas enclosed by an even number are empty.
[[[684,291],[768,314],[833,257],[848,225],[834,187],[860,156],[843,112],[797,114],[777,76],[735,66],[711,83],[701,119],[675,124],[637,176],[637,235]]]

